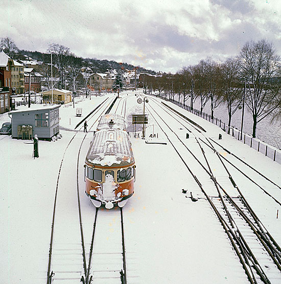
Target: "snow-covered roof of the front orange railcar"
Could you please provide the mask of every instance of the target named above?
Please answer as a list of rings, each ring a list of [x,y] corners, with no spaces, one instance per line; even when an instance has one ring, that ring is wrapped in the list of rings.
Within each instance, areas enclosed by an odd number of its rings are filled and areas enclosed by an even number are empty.
[[[96,132],[86,161],[102,166],[126,166],[134,162],[128,134],[120,129],[102,129]]]

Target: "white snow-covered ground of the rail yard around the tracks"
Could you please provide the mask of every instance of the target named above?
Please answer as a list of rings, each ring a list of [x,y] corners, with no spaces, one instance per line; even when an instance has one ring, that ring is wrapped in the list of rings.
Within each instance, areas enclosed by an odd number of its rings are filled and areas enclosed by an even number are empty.
[[[123,99],[128,97],[126,121],[131,134],[131,114],[143,112],[143,105],[136,102],[133,94],[131,91],[121,94]],[[114,94],[108,96],[111,99]],[[39,141],[38,159],[32,159],[33,145],[24,143],[29,141],[11,139],[8,136],[0,137],[1,283],[46,283],[54,198],[64,152],[56,219],[61,225],[58,228],[55,223],[55,245],[62,250],[67,250],[69,244],[72,244],[72,250],[76,250],[76,245],[81,245],[79,240],[77,241],[79,224],[76,165],[79,145],[84,138],[83,129],[69,148],[66,149],[66,146],[75,134],[75,126],[106,98],[107,96],[92,97],[91,100],[78,101],[76,107],[83,108],[81,118],[75,116],[76,108],[73,108],[72,104],[61,106],[60,133],[63,137],[56,142]],[[152,99],[149,100],[152,105]],[[228,136],[217,126],[173,104],[170,105],[207,129],[208,137],[217,139],[221,133],[220,143],[224,147],[281,186],[281,165]],[[161,115],[167,122],[171,120],[169,116]],[[95,208],[84,194],[83,162],[97,118],[93,116],[88,120],[89,127],[92,124],[93,127],[85,137],[79,159],[80,200],[87,252]],[[0,116],[0,122],[5,121],[10,121],[7,114]],[[182,129],[176,125],[174,127],[178,135],[185,136]],[[137,130],[140,132],[140,127]],[[183,167],[157,122],[149,115],[147,138],[153,132],[158,135],[159,140],[167,142],[167,145],[146,144],[141,138],[131,138],[136,161],[135,194],[123,208],[128,283],[247,283],[239,259],[208,202],[205,199],[192,202],[182,194],[184,188],[196,195],[197,190],[192,187],[194,182],[191,182],[188,171]],[[185,140],[187,145],[189,143],[191,147],[194,146],[192,139]],[[237,176],[241,179],[238,174]],[[248,187],[246,180],[239,181],[239,186],[249,199],[250,205],[275,241],[281,245],[280,218],[276,218],[280,206],[259,188]],[[270,186],[265,184],[265,187],[269,189]],[[276,198],[280,200],[280,193],[275,193]],[[115,212],[105,210],[102,213],[106,214],[109,220],[103,224],[106,246],[106,242],[112,239]],[[55,251],[54,255],[58,251]],[[79,250],[77,255],[69,253],[67,257],[68,260],[74,257],[73,265],[83,272]],[[79,283],[78,278],[79,273],[77,280],[73,282]],[[277,281],[278,279],[281,277],[277,278]],[[69,280],[67,283],[73,282]],[[104,280],[104,283],[107,281]]]

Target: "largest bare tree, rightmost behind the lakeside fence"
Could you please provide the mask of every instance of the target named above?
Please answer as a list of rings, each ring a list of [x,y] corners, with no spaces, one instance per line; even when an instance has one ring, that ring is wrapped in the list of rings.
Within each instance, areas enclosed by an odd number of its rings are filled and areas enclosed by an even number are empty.
[[[240,76],[246,82],[246,104],[253,118],[252,136],[256,125],[270,115],[281,103],[280,84],[274,80],[280,69],[280,56],[272,42],[265,39],[248,41],[240,52]]]

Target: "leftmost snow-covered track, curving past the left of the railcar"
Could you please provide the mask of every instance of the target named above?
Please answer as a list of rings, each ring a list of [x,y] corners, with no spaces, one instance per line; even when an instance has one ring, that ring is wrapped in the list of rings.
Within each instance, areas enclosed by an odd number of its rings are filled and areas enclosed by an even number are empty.
[[[109,103],[102,103],[98,110],[90,116],[88,123],[91,119],[96,118],[91,127],[111,103],[112,100]],[[75,190],[72,191],[72,188],[75,188],[74,185],[77,183],[76,177],[78,177],[80,149],[87,135],[79,131],[81,128],[77,130],[68,142],[58,171],[46,279],[47,284],[51,284],[52,282],[77,283],[77,280],[81,279],[83,268],[85,271],[85,252],[79,193],[78,200],[76,200],[75,196],[77,196],[77,193],[75,194]],[[77,155],[77,166],[73,163],[75,155]]]

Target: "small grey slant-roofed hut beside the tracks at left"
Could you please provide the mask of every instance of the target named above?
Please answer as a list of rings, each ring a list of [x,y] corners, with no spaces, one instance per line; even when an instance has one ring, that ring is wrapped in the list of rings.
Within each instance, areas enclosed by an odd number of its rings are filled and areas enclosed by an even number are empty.
[[[59,133],[60,105],[34,106],[28,110],[9,112],[12,119],[12,138],[51,140]]]

